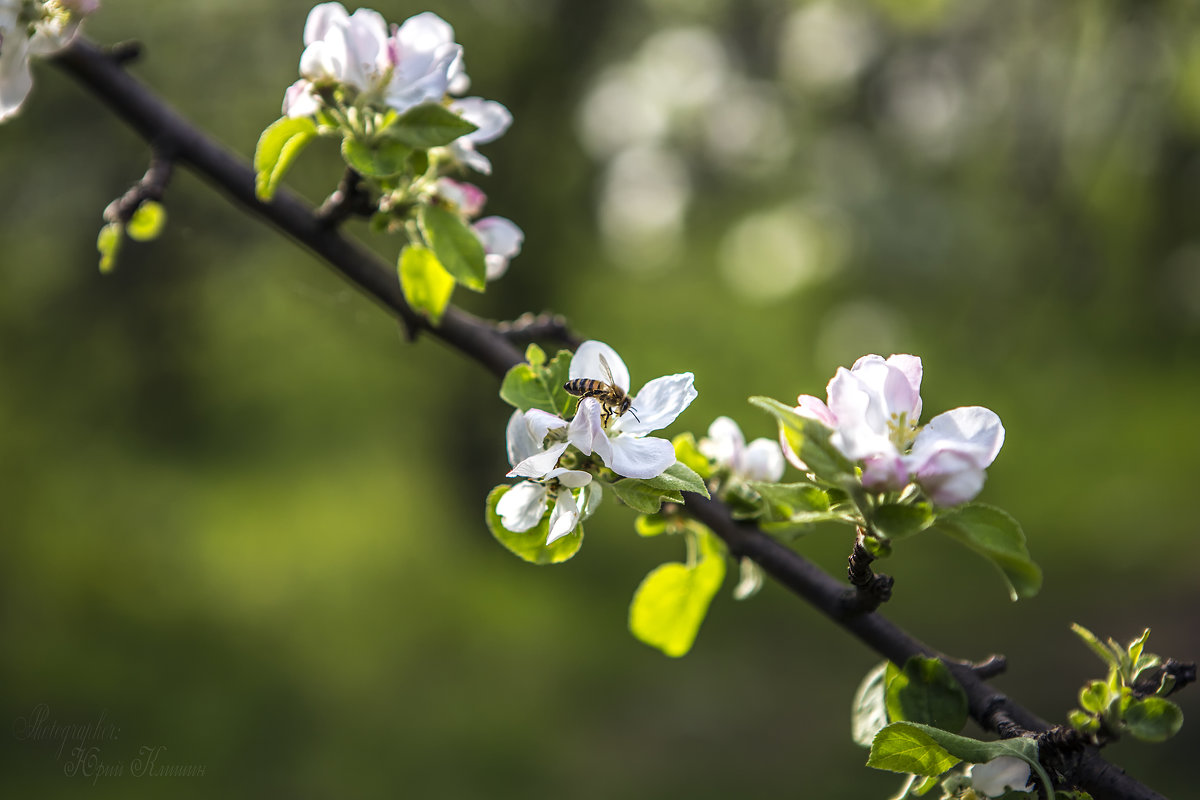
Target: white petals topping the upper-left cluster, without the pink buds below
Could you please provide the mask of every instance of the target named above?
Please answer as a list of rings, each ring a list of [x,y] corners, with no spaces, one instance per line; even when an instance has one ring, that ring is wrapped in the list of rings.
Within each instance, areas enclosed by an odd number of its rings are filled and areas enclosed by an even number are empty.
[[[424,103],[443,103],[470,86],[462,46],[454,28],[426,11],[388,26],[377,11],[349,13],[341,2],[322,2],[308,12],[300,55],[300,79],[283,95],[283,114],[312,116],[338,102],[338,91],[356,110],[403,114]],[[448,157],[475,172],[491,173],[476,146],[499,138],[512,124],[503,104],[460,97],[449,108],[476,130],[445,149]]]

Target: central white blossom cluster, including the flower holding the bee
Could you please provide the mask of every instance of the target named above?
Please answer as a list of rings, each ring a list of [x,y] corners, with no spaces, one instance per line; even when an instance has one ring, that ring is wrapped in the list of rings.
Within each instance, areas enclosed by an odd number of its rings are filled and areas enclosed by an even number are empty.
[[[607,369],[605,368],[607,365]],[[571,359],[571,380],[612,381],[629,391],[629,369],[604,342],[580,345]],[[600,467],[622,477],[658,477],[676,462],[674,446],[647,435],[665,428],[696,399],[690,372],[650,380],[632,397],[634,414],[606,419],[595,397],[580,401],[570,420],[539,409],[514,411],[508,426],[509,477],[526,479],[500,498],[496,512],[514,533],[535,528],[550,512],[547,545],[566,536],[600,504]],[[574,469],[581,467],[582,469]],[[553,506],[551,507],[551,504]]]

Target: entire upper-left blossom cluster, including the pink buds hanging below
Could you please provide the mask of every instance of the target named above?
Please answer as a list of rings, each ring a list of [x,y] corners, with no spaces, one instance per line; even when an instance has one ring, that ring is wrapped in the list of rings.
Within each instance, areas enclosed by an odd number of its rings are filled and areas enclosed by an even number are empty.
[[[316,118],[318,124],[371,139],[386,136],[398,115],[436,104],[475,126],[445,146],[431,148],[425,174],[385,194],[380,209],[438,203],[457,211],[484,246],[487,278],[503,275],[521,252],[524,235],[504,217],[476,219],[487,197],[442,173],[468,168],[491,174],[492,163],[478,146],[508,131],[512,115],[496,101],[458,97],[470,78],[450,24],[424,12],[389,28],[377,11],[349,13],[340,2],[323,2],[308,13],[304,43],[300,79],[283,97],[287,118]]]

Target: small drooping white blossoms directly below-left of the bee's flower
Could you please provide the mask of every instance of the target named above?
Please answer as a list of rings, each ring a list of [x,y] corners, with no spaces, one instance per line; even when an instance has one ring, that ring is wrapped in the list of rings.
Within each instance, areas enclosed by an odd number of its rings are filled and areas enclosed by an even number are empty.
[[[558,467],[566,441],[546,445],[551,434],[559,437],[568,422],[559,416],[530,409],[514,411],[505,435],[509,477],[527,477],[504,493],[496,505],[500,524],[514,533],[535,528],[553,500],[550,512],[547,545],[570,534],[590,516],[600,501],[600,487],[588,487],[592,475],[582,470]]]

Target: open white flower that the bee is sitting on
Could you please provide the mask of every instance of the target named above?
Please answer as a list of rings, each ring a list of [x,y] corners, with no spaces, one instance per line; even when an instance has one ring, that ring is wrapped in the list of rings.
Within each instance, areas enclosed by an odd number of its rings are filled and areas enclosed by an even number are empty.
[[[571,380],[589,378],[608,383],[601,356],[612,372],[612,381],[620,391],[628,392],[629,368],[604,342],[588,341],[580,345],[571,359]],[[696,399],[692,383],[690,372],[655,378],[634,396],[634,411],[613,417],[607,427],[600,402],[595,397],[584,397],[571,420],[568,440],[584,456],[595,452],[618,475],[656,477],[676,462],[674,446],[666,439],[646,434],[674,422]]]

